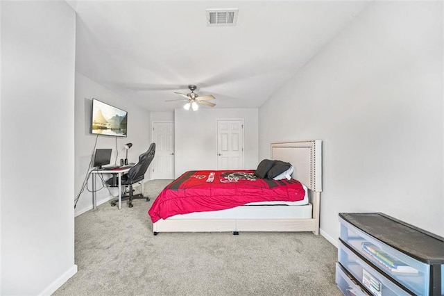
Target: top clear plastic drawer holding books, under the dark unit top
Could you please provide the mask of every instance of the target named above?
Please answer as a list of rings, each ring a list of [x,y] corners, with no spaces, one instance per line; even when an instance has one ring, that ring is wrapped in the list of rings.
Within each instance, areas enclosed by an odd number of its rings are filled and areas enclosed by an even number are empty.
[[[341,240],[416,295],[429,295],[429,265],[393,249],[339,217]]]

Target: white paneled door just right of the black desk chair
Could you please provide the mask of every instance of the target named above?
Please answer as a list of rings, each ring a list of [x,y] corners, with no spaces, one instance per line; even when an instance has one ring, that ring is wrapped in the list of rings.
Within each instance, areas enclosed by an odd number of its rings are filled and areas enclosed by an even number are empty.
[[[174,179],[174,122],[153,122],[152,179]]]

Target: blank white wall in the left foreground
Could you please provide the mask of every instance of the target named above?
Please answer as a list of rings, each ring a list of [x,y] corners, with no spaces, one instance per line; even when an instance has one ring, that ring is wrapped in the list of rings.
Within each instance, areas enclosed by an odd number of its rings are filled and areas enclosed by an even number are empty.
[[[1,3],[1,295],[50,295],[77,270],[75,22],[65,1]]]

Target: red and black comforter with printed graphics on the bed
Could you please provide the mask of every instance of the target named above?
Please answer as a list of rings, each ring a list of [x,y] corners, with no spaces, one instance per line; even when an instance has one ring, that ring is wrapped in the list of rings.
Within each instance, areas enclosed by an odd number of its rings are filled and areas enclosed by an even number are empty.
[[[294,179],[259,179],[253,170],[189,171],[160,192],[148,214],[155,223],[177,214],[218,211],[250,202],[296,202],[304,197],[302,184]]]

